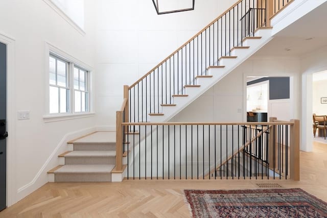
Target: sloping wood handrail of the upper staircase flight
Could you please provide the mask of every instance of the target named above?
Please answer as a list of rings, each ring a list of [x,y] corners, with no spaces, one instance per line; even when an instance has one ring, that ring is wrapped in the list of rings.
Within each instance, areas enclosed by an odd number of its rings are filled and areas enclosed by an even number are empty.
[[[211,25],[213,25],[213,23],[215,23],[217,20],[219,20],[221,17],[223,17],[227,12],[229,12],[232,8],[234,8],[235,6],[237,6],[238,4],[240,4],[243,0],[239,0],[238,2],[236,2],[235,4],[233,4],[232,6],[230,6],[227,10],[225,10],[221,15],[219,15],[216,19],[214,19],[212,22],[210,22],[207,26],[205,26],[202,30],[200,30],[196,35],[194,35],[190,40],[188,40],[187,42],[185,42],[183,45],[181,45],[177,50],[175,50],[171,55],[169,55],[165,60],[161,61],[158,65],[156,65],[155,67],[153,67],[147,74],[145,74],[143,77],[141,77],[140,79],[138,79],[135,83],[133,83],[131,86],[129,86],[128,89],[131,89],[132,87],[134,87],[137,83],[141,82],[144,78],[146,78],[149,74],[151,74],[151,72],[153,70],[155,70],[156,68],[158,68],[161,64],[165,63],[165,61],[167,61],[169,58],[171,58],[173,55],[175,55],[179,50],[182,49],[182,47],[184,47],[185,45],[189,44],[193,39],[195,39],[196,37],[198,37],[203,31],[205,31],[207,28],[209,28]]]

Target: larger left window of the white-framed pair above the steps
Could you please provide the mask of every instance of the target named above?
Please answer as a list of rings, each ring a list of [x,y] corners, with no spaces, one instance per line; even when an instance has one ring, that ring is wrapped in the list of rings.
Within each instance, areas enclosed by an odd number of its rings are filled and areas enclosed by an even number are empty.
[[[49,57],[50,113],[69,112],[68,62],[55,56]]]

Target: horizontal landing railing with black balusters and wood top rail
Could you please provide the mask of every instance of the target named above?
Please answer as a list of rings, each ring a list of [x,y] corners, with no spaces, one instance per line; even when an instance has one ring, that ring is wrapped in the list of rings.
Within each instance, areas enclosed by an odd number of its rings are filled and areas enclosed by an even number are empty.
[[[266,154],[261,156],[258,151],[258,138],[252,137],[244,142],[244,126],[261,125],[263,133],[268,134]],[[122,126],[138,129],[137,135],[129,136],[126,144],[127,179],[222,179],[222,178],[277,178],[275,174],[265,174],[276,168],[286,171],[291,179],[299,180],[299,128],[298,120],[290,122],[268,123],[123,123]],[[279,135],[283,128],[290,130],[290,142],[283,144]],[[257,136],[263,135],[258,133]],[[142,139],[143,138],[143,139]],[[255,138],[255,139],[254,139]],[[140,140],[142,139],[142,140]],[[263,137],[260,139],[263,140]],[[288,141],[288,140],[286,140]],[[268,143],[268,144],[267,144]],[[289,148],[290,159],[287,155],[281,158],[283,148]],[[248,162],[254,168],[250,174],[230,174],[230,170],[239,171],[241,162],[235,162],[240,151],[252,155]],[[264,158],[262,158],[265,156]],[[259,158],[261,157],[261,158]],[[243,155],[244,159],[244,155]],[[282,161],[282,159],[284,161]],[[265,163],[264,163],[265,162]],[[226,164],[227,163],[227,164]],[[228,164],[231,163],[231,164]],[[261,164],[260,167],[258,164]],[[225,165],[227,173],[217,174],[217,166]],[[256,167],[258,166],[258,167]],[[238,168],[237,168],[238,167]],[[265,167],[265,170],[263,168]],[[251,171],[249,168],[249,171]],[[219,171],[219,169],[218,169]],[[245,171],[244,171],[245,172]],[[259,176],[260,175],[260,176]],[[280,179],[289,177],[280,177]]]

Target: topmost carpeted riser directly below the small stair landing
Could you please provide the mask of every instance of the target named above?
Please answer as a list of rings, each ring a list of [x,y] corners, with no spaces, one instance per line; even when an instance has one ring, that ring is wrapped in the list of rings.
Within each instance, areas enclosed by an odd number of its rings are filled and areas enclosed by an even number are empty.
[[[115,151],[116,142],[74,142],[74,151]]]

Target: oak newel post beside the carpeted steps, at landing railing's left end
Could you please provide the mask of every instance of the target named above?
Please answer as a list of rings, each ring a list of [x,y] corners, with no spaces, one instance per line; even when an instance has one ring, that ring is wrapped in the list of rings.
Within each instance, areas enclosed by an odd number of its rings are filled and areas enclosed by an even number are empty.
[[[123,169],[123,111],[116,111],[116,171]]]

